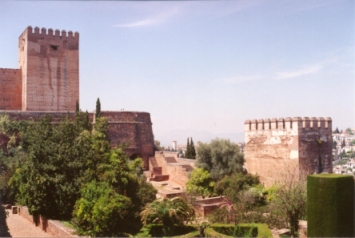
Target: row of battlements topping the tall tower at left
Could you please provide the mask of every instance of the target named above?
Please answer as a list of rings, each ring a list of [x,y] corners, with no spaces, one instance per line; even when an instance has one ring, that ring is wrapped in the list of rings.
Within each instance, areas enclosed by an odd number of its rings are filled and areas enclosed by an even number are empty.
[[[38,37],[54,37],[54,38],[58,38],[58,39],[70,39],[70,40],[76,40],[79,41],[79,32],[75,32],[73,34],[72,31],[65,31],[65,30],[58,30],[56,29],[55,31],[53,31],[52,28],[48,28],[48,32],[46,28],[39,28],[39,27],[35,27],[34,29],[32,28],[32,26],[28,26],[27,29],[25,30],[27,31],[27,34],[29,36],[38,36]]]

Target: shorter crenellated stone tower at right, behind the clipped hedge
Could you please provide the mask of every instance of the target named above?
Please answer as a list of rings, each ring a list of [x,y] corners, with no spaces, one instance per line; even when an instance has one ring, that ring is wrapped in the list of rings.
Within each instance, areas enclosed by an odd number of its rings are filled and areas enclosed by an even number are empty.
[[[324,172],[332,172],[332,119],[287,117],[245,121],[245,161],[248,172],[270,186],[297,166],[297,176],[316,172],[319,157]]]

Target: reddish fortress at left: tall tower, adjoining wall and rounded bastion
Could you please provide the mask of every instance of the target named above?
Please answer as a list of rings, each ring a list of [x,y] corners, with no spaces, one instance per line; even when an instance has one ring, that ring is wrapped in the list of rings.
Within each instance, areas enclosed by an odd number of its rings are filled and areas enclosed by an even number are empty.
[[[54,121],[79,102],[79,33],[27,27],[19,37],[18,69],[0,68],[0,114],[30,120],[50,114]],[[145,169],[154,156],[154,135],[146,112],[101,111],[108,118],[112,146],[128,142],[126,152],[141,157]],[[90,113],[95,123],[95,113]]]

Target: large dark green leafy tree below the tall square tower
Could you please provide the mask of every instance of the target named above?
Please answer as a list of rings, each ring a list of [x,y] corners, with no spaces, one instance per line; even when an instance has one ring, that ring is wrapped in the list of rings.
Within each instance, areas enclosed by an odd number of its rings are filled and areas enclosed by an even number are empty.
[[[47,218],[71,217],[87,159],[78,156],[76,135],[69,118],[53,126],[47,116],[28,128],[27,159],[9,184],[30,213]]]

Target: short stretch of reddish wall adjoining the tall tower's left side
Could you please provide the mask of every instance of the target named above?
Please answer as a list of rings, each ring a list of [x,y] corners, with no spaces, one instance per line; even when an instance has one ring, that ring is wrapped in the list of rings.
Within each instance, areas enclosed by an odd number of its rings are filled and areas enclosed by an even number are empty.
[[[21,110],[21,70],[0,68],[0,110]]]

